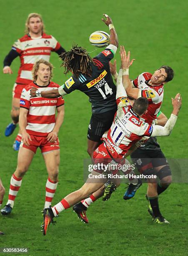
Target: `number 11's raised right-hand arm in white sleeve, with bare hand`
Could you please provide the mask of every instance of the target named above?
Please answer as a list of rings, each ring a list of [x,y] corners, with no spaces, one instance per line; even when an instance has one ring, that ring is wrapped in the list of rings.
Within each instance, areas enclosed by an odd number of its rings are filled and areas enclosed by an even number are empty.
[[[170,118],[168,119],[164,127],[160,125],[154,125],[151,137],[170,135],[178,118],[178,113],[181,108],[181,101],[181,95],[179,93],[175,96],[174,99],[172,98],[173,111],[170,115]]]

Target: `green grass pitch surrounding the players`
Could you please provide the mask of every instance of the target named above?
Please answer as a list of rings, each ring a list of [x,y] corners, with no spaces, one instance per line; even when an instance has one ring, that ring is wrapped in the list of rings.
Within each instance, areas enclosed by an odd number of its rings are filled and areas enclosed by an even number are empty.
[[[136,59],[130,68],[134,78],[144,71],[153,72],[160,65],[175,70],[172,82],[165,85],[161,110],[168,117],[172,110],[171,97],[180,92],[183,106],[174,131],[168,138],[159,138],[166,157],[187,158],[187,67],[188,59],[188,6],[183,0],[132,0],[112,1],[33,1],[7,0],[1,3],[1,63],[13,42],[23,36],[28,13],[42,14],[46,32],[55,36],[68,50],[73,42],[88,51],[90,33],[96,30],[108,32],[100,20],[103,13],[111,18],[118,33],[119,44],[130,50]],[[91,53],[95,56],[100,50]],[[119,53],[116,54],[118,68]],[[54,82],[65,81],[58,55],[53,53]],[[17,164],[17,152],[12,144],[16,131],[8,138],[4,129],[10,122],[12,87],[19,67],[19,59],[12,64],[13,75],[1,73],[0,89],[0,177],[8,198],[10,177]],[[90,120],[90,103],[81,92],[65,96],[65,121],[59,133],[61,163],[58,189],[53,203],[83,184],[83,159],[87,159],[87,129]],[[175,160],[177,161],[177,160]],[[185,165],[185,168],[187,166]],[[186,169],[182,170],[182,172]],[[178,177],[176,173],[175,177]],[[77,220],[70,209],[62,212],[56,225],[50,225],[47,236],[42,236],[40,223],[45,198],[47,172],[38,150],[25,175],[15,200],[11,215],[0,215],[0,247],[29,248],[29,255],[185,255],[187,243],[186,194],[187,175],[184,183],[174,182],[160,196],[160,209],[170,225],[153,223],[147,212],[146,184],[129,201],[123,200],[124,184],[112,195],[109,202],[98,200],[88,210],[89,224]],[[177,179],[176,179],[177,181]],[[18,253],[19,254],[19,253]]]

